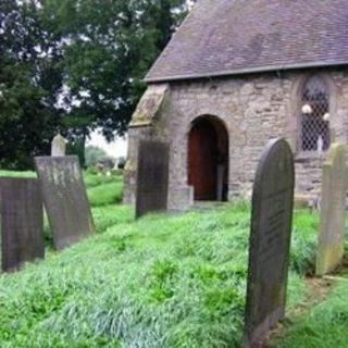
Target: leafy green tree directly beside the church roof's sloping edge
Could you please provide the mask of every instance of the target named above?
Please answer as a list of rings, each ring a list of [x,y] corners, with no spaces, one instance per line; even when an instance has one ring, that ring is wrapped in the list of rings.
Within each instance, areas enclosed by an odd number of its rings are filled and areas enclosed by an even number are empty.
[[[147,70],[170,39],[185,0],[51,0],[45,17],[64,37],[64,84],[72,117],[67,127],[86,135],[101,127],[123,135],[145,90]],[[176,11],[174,11],[176,10]]]

